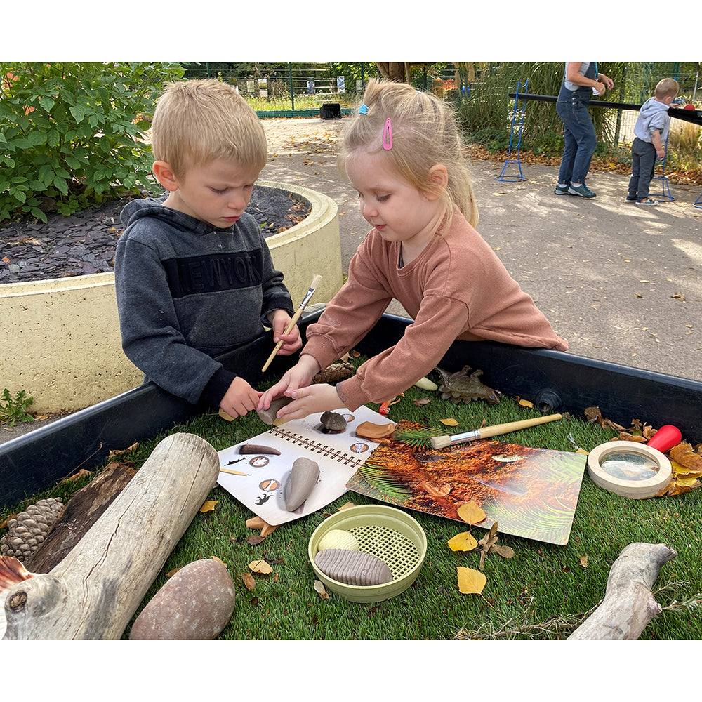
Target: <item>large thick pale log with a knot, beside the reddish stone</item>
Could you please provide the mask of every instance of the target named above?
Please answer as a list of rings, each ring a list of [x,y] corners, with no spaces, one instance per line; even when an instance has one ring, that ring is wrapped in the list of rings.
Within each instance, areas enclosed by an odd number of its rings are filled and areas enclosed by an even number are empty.
[[[218,472],[204,439],[166,437],[51,573],[8,592],[4,638],[119,639]]]

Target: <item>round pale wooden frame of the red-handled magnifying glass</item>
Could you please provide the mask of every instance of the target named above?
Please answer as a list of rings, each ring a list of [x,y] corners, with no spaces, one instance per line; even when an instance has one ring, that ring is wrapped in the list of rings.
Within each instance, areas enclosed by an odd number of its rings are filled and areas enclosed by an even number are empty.
[[[627,480],[614,477],[602,468],[602,462],[614,454],[634,455],[648,458],[658,470],[644,480]],[[612,441],[600,444],[590,451],[588,456],[588,474],[592,482],[621,497],[630,497],[636,500],[656,496],[668,483],[673,474],[673,467],[665,454],[658,449],[639,444],[633,441]]]

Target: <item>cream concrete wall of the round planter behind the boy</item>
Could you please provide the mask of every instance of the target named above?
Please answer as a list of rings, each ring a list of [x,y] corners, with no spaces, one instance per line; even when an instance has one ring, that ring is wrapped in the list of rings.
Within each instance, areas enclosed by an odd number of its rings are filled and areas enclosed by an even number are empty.
[[[274,264],[300,304],[314,274],[312,303],[328,302],[343,279],[336,203],[305,187],[259,181],[292,192],[312,208],[299,224],[267,238]],[[143,374],[121,350],[114,274],[0,285],[0,392],[25,390],[33,412],[75,411],[119,395]]]

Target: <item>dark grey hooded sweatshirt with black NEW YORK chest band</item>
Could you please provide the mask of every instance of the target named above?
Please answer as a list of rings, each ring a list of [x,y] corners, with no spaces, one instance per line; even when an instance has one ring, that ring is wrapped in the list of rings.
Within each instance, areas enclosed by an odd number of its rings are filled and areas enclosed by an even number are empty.
[[[272,310],[293,314],[256,220],[227,229],[164,207],[129,202],[114,258],[122,348],[173,395],[218,406],[237,373],[212,357],[263,333]],[[266,322],[267,323],[267,322]]]

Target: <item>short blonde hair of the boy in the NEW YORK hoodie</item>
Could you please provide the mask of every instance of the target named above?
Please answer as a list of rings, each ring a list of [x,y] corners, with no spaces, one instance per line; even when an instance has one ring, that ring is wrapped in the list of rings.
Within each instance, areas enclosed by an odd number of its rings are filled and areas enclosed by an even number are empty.
[[[268,147],[260,119],[218,79],[166,84],[152,121],[152,151],[177,178],[215,159],[263,170]]]

